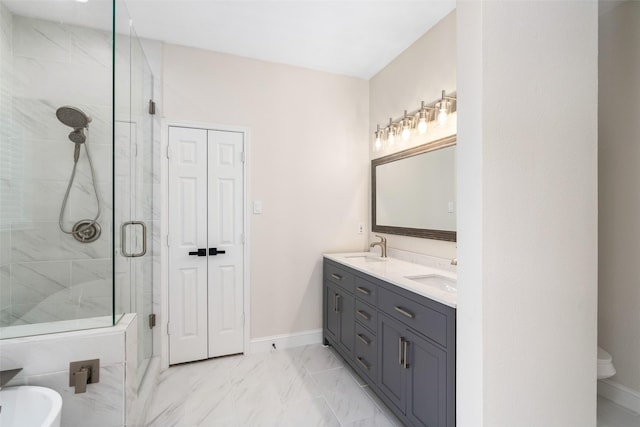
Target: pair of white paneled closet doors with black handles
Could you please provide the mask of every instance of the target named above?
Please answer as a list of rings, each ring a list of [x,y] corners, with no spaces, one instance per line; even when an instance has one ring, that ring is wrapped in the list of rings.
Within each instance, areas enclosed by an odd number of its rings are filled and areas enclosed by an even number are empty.
[[[244,135],[169,128],[169,363],[244,350]]]

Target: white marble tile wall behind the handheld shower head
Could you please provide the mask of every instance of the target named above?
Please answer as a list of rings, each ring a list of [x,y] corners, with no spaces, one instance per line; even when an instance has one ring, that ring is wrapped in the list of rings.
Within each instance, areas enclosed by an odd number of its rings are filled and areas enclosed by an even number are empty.
[[[11,16],[2,12],[5,78],[0,175],[0,325],[103,316],[112,304],[112,41],[87,28]],[[9,83],[9,89],[5,88]],[[9,92],[10,91],[10,92]],[[70,128],[56,109],[76,106],[90,116],[87,145],[102,204],[102,236],[80,243],[58,228],[58,215],[73,168]],[[2,111],[3,117],[5,111]],[[6,129],[5,129],[6,128]],[[6,144],[6,145],[5,145]],[[4,150],[4,148],[3,148]],[[8,156],[5,158],[5,154]],[[9,202],[9,203],[6,203]],[[65,228],[92,219],[96,203],[82,151],[71,189]]]

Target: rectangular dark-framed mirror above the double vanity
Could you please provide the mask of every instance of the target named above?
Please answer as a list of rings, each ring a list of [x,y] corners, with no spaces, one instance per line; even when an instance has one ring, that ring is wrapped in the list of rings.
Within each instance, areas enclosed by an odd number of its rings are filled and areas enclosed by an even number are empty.
[[[456,135],[371,161],[379,233],[456,241]]]

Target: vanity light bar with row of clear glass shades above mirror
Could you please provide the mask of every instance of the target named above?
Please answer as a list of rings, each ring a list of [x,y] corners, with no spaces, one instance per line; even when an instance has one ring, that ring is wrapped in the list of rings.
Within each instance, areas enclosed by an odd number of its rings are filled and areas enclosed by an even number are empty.
[[[447,123],[449,114],[457,110],[457,97],[455,92],[447,95],[446,91],[442,91],[440,99],[425,104],[424,101],[420,103],[420,108],[411,113],[404,111],[402,118],[394,121],[393,118],[389,119],[389,124],[380,129],[380,125],[376,127],[374,132],[373,150],[379,151],[385,146],[391,146],[395,143],[396,136],[398,134],[404,141],[411,138],[414,129],[417,129],[417,134],[424,135],[431,121],[431,111],[437,111],[434,114],[433,119],[437,120],[439,126],[444,126]]]

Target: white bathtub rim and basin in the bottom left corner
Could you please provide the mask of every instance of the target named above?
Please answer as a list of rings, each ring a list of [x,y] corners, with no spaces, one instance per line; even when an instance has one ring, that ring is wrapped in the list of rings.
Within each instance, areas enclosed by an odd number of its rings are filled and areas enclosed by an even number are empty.
[[[0,390],[0,426],[60,427],[62,397],[46,387],[17,386]]]

